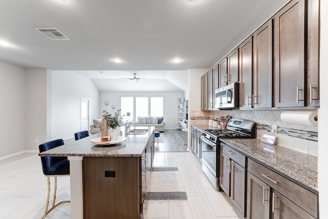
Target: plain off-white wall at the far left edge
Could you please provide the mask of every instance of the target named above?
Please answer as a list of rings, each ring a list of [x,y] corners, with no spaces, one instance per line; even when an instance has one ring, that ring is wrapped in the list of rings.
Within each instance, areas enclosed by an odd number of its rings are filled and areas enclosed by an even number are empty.
[[[0,62],[0,157],[25,149],[25,69]]]

